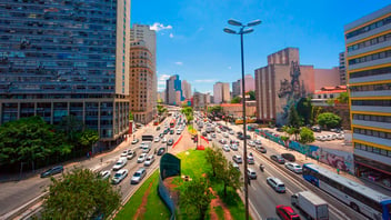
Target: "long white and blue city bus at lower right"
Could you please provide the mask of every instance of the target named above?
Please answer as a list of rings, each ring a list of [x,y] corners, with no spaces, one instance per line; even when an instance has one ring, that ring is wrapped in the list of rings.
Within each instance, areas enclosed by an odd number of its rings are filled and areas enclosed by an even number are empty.
[[[391,220],[391,197],[313,163],[303,166],[303,178],[371,219]]]

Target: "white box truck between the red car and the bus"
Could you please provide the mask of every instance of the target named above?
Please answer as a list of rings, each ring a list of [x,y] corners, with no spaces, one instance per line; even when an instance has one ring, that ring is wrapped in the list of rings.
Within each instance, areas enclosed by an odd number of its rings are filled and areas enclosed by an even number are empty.
[[[328,220],[328,203],[311,191],[302,191],[291,196],[291,202],[307,214],[308,219]]]

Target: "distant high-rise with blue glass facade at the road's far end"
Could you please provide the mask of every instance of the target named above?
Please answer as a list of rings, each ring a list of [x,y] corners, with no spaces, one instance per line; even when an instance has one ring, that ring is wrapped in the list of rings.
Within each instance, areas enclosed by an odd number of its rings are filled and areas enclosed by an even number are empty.
[[[179,91],[179,94],[177,93]],[[171,76],[166,81],[166,103],[179,106],[183,101],[182,83],[178,74]]]

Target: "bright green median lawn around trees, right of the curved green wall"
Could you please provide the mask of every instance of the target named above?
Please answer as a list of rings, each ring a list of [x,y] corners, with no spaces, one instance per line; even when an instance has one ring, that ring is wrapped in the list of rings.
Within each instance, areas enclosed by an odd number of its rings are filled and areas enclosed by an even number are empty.
[[[177,157],[181,159],[181,174],[189,176],[190,178],[199,178],[203,173],[211,176],[211,167],[208,164],[205,159],[205,152],[202,150],[189,150],[187,152],[179,153]],[[218,192],[220,199],[227,204],[228,209],[231,212],[233,219],[244,219],[244,204],[238,193],[232,189],[228,188],[227,197],[223,197],[223,186],[218,182],[218,180],[213,178],[209,178],[212,188]],[[173,181],[176,184],[180,184],[182,180],[178,177]],[[220,208],[221,209],[221,208]],[[182,212],[180,210],[180,212]],[[217,210],[217,214],[219,214],[219,208]],[[221,209],[221,214],[222,209]],[[188,219],[186,214],[178,216],[179,219]],[[208,217],[209,218],[209,217]],[[223,219],[223,218],[222,218]]]

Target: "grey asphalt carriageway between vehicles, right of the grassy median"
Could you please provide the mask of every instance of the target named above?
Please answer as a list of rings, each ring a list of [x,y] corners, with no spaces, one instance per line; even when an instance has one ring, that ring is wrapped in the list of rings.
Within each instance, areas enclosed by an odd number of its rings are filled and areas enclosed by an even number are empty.
[[[237,131],[242,131],[241,128],[237,126],[231,126],[231,128]],[[218,142],[221,139],[225,140],[238,140],[235,136],[229,134],[229,138],[223,138],[221,133],[217,133],[217,138],[213,139],[213,142],[221,147]],[[323,200],[329,203],[329,216],[330,219],[367,219],[362,214],[355,212],[350,207],[347,207],[344,203],[340,202],[339,200],[330,197],[329,194],[324,193],[323,191],[319,190],[318,188],[313,187],[312,184],[307,183],[300,174],[295,174],[288,169],[283,164],[278,164],[270,160],[271,154],[278,153],[273,148],[267,144],[265,139],[258,137],[261,139],[262,146],[267,148],[267,153],[261,153],[255,149],[248,147],[248,153],[252,152],[254,157],[254,164],[249,164],[249,168],[252,168],[257,171],[257,179],[251,180],[251,184],[248,187],[249,189],[249,206],[250,209],[253,211],[254,219],[267,219],[269,217],[277,217],[275,214],[275,206],[278,204],[285,204],[291,206],[291,196],[293,193],[300,191],[311,190],[320,196]],[[240,147],[238,151],[224,152],[224,156],[229,161],[232,161],[232,157],[234,154],[243,156],[243,143],[240,142]],[[244,161],[243,161],[244,162]],[[262,163],[264,166],[264,171],[262,172],[259,169],[259,164]],[[240,164],[241,172],[243,172],[243,164]],[[285,184],[287,192],[285,193],[278,193],[275,192],[265,181],[268,177],[277,177],[282,180]],[[292,207],[292,206],[291,206]],[[299,214],[299,210],[293,208]],[[302,216],[302,219],[303,216]]]

